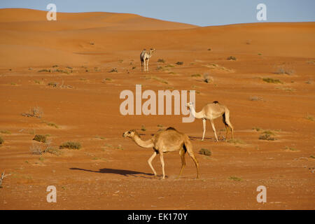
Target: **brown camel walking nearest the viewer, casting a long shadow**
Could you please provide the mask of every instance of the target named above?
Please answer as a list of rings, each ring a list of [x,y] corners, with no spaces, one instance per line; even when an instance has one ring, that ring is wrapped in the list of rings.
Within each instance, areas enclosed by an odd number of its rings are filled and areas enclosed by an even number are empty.
[[[154,176],[157,176],[157,174],[151,162],[155,158],[155,156],[160,154],[163,172],[162,179],[165,179],[165,165],[163,154],[167,152],[179,151],[179,155],[181,156],[181,170],[179,172],[179,176],[181,176],[183,168],[186,166],[185,155],[187,152],[188,155],[190,155],[190,157],[195,162],[195,166],[197,168],[197,179],[199,178],[199,165],[193,153],[193,145],[191,144],[190,139],[186,134],[178,132],[174,127],[168,127],[166,130],[160,130],[156,134],[154,134],[151,139],[148,139],[146,141],[140,138],[136,130],[125,132],[123,134],[123,137],[129,137],[140,147],[153,148],[154,153],[151,158],[148,159],[148,165],[151,167]]]

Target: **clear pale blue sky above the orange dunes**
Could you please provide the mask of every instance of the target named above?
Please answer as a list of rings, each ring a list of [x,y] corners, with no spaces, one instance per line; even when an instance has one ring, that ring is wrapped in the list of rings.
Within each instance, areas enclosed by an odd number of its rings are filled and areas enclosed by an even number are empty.
[[[47,10],[48,3],[57,12],[135,13],[199,26],[260,22],[256,6],[265,3],[265,22],[315,21],[315,0],[1,0],[0,8]]]

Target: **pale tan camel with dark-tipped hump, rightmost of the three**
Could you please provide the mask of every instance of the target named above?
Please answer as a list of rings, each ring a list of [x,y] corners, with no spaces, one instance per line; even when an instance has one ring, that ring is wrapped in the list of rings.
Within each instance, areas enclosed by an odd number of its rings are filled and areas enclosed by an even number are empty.
[[[204,127],[204,132],[202,134],[202,141],[204,141],[204,134],[206,133],[206,120],[210,120],[212,130],[214,130],[214,135],[216,136],[216,127],[214,127],[214,119],[219,118],[221,116],[223,117],[223,123],[226,129],[225,140],[228,139],[228,127],[230,127],[231,129],[232,139],[234,139],[234,129],[233,129],[232,124],[230,123],[230,111],[226,106],[219,104],[219,102],[217,101],[214,101],[211,104],[207,104],[206,106],[204,106],[202,108],[202,111],[200,112],[195,111],[193,103],[191,102],[189,102],[187,106],[195,118],[202,119],[202,125]],[[218,141],[217,136],[216,136],[216,141]]]

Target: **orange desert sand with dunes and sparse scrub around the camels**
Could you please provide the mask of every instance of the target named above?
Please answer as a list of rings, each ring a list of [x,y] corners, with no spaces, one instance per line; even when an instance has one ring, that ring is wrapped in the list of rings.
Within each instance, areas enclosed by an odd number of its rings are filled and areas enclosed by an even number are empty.
[[[315,22],[197,27],[120,13],[47,21],[46,13],[0,10],[0,172],[9,174],[0,209],[315,209]],[[144,48],[156,50],[149,72]],[[120,92],[137,84],[196,90],[196,111],[215,100],[228,106],[235,141],[215,142],[210,123],[201,141],[200,119],[121,115]],[[22,116],[35,106],[41,118]],[[222,140],[221,118],[214,123]],[[176,179],[178,153],[164,156],[165,180],[155,158],[154,177],[153,150],[122,137],[137,129],[149,139],[165,127],[188,134],[200,179],[188,156]],[[259,139],[265,133],[274,140]],[[48,134],[61,154],[34,155],[45,147],[35,134]],[[59,149],[66,141],[82,148]],[[48,186],[57,203],[46,201]],[[266,203],[256,200],[258,186]]]

